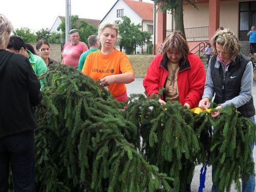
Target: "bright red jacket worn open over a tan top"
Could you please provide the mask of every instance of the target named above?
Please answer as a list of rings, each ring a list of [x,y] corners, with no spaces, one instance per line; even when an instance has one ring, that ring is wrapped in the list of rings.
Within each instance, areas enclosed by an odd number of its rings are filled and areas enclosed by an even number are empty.
[[[162,55],[158,54],[147,69],[143,80],[146,93],[151,96],[158,94],[159,88],[163,89],[168,76],[167,62],[162,60]],[[185,66],[180,66],[177,75],[180,103],[188,103],[191,109],[198,106],[204,92],[205,70],[201,59],[188,54],[188,62]],[[163,95],[161,96],[163,99]]]

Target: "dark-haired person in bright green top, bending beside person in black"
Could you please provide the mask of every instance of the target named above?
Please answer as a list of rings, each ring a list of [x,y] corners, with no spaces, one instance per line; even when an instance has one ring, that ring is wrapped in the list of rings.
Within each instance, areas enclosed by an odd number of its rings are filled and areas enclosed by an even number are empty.
[[[47,66],[44,60],[38,55],[31,53],[24,42],[24,40],[18,36],[11,36],[7,50],[13,53],[19,53],[29,58],[29,62],[37,76],[47,71]]]

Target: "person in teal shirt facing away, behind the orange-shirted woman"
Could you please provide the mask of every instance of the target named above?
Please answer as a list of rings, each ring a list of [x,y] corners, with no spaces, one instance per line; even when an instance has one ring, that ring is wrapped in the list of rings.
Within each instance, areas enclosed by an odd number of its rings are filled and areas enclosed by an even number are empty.
[[[95,51],[99,50],[100,42],[99,42],[97,35],[90,35],[87,40],[88,40],[90,49],[81,54],[79,62],[78,62],[78,71],[82,71],[82,67],[83,67],[84,62],[86,61],[87,55],[89,55],[89,53],[91,53],[91,52],[95,52]]]

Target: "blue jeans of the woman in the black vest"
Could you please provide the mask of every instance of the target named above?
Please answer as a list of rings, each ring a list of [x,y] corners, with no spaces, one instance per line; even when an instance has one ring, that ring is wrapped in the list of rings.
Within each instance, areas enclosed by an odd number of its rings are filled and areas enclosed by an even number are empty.
[[[255,123],[254,116],[250,117],[248,119]],[[253,152],[253,147],[254,147],[254,143],[252,142],[251,143],[251,159],[252,159],[252,161],[254,161],[253,160],[253,153],[252,153]],[[211,177],[212,177],[212,179],[214,177],[214,167],[212,167]],[[254,176],[250,176],[248,182],[246,182],[242,179],[242,192],[254,192],[254,189],[255,189],[255,177]],[[216,190],[216,185],[212,184],[211,192],[216,192],[216,191],[217,191]]]

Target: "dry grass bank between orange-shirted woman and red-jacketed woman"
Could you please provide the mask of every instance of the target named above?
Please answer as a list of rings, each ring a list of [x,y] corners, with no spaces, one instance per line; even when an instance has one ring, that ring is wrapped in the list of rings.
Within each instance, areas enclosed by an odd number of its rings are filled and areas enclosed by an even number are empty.
[[[150,66],[154,55],[127,55],[133,69],[135,71],[135,77],[143,78],[146,75],[146,70]]]

